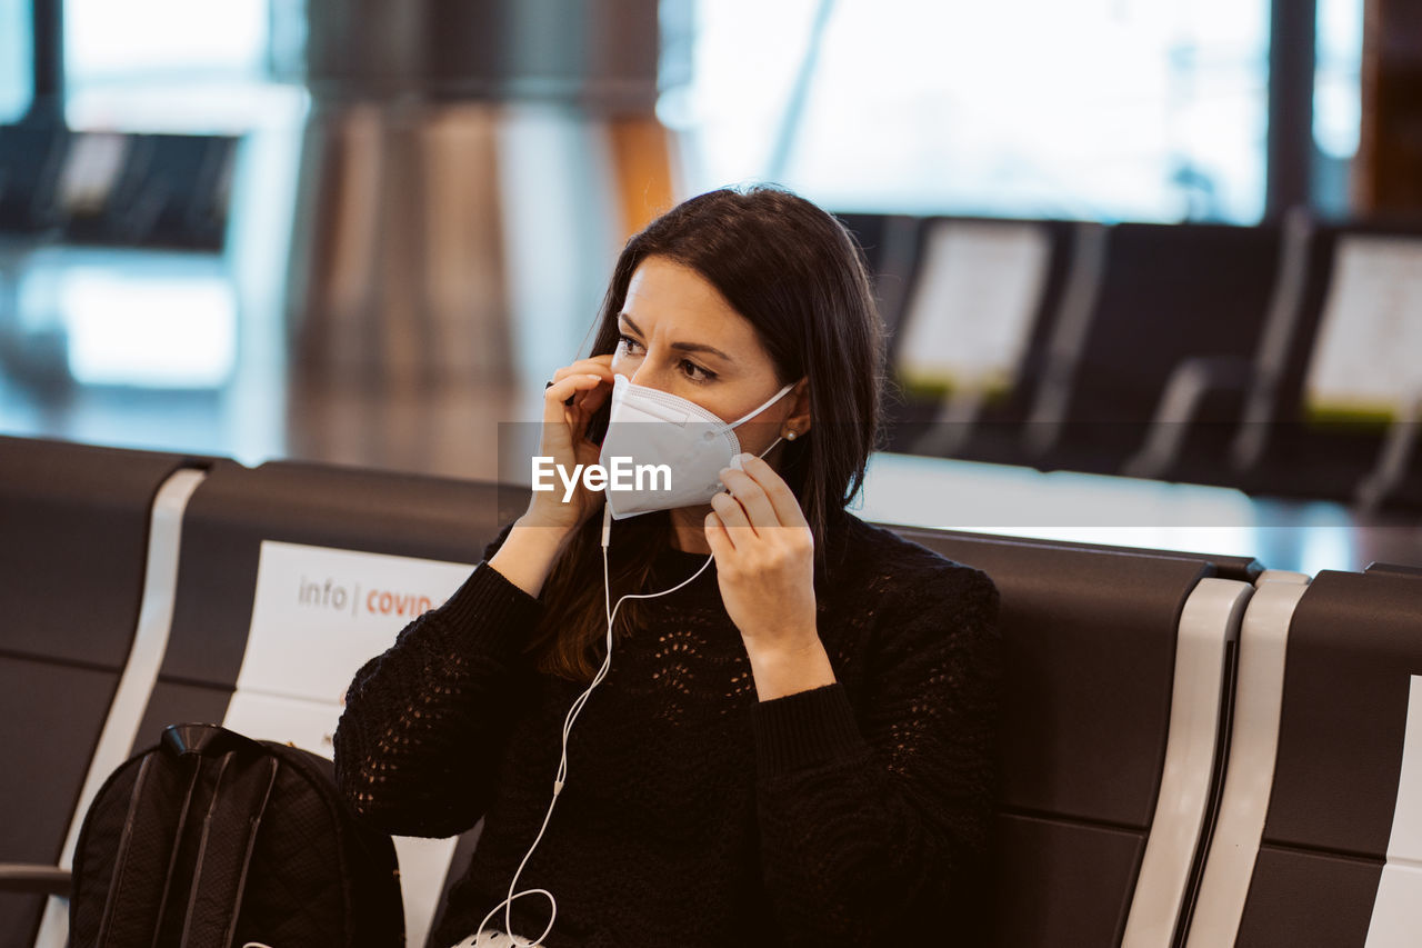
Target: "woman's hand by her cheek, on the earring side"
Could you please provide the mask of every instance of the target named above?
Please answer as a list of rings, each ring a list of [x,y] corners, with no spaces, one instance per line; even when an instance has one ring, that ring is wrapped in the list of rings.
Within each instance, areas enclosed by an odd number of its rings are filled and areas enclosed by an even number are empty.
[[[823,653],[815,628],[815,534],[799,501],[769,464],[742,454],[721,470],[731,491],[711,498],[705,535],[727,615],[752,665]]]

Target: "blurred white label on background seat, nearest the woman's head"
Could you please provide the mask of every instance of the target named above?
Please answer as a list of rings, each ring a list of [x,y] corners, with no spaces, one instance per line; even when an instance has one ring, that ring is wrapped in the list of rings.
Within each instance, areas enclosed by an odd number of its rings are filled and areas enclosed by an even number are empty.
[[[1005,386],[1022,362],[1051,241],[1035,223],[940,221],[904,316],[909,383]]]

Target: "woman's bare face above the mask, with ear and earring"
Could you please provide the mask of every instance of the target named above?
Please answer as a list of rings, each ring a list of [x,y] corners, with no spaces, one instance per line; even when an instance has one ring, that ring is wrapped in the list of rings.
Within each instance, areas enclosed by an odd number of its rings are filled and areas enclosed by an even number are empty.
[[[614,373],[695,401],[722,421],[742,417],[781,389],[751,323],[705,278],[667,258],[648,256],[633,272],[617,330]],[[747,418],[737,438],[759,454],[788,428],[809,428],[803,379]]]

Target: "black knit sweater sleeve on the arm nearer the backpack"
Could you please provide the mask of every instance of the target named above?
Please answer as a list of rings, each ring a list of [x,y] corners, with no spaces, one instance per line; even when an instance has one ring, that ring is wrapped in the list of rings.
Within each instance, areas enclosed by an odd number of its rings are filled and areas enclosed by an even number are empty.
[[[395,836],[447,837],[474,826],[493,764],[532,678],[522,653],[543,602],[488,559],[356,672],[334,734],[336,783],[356,813]]]

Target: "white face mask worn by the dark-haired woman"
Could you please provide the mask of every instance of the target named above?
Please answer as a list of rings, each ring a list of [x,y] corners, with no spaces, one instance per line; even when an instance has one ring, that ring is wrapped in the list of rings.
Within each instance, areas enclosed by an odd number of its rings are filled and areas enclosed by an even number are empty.
[[[613,458],[630,458],[629,470],[665,464],[671,468],[671,488],[665,488],[663,477],[643,477],[641,488],[636,487],[633,477],[626,478],[633,483],[630,490],[609,485],[606,501],[613,520],[708,502],[724,488],[721,468],[741,467],[734,460],[741,453],[735,428],[793,387],[793,383],[785,386],[735,421],[722,421],[695,401],[614,374],[611,413],[599,464],[607,470],[613,468]],[[761,455],[779,441],[775,438]]]

